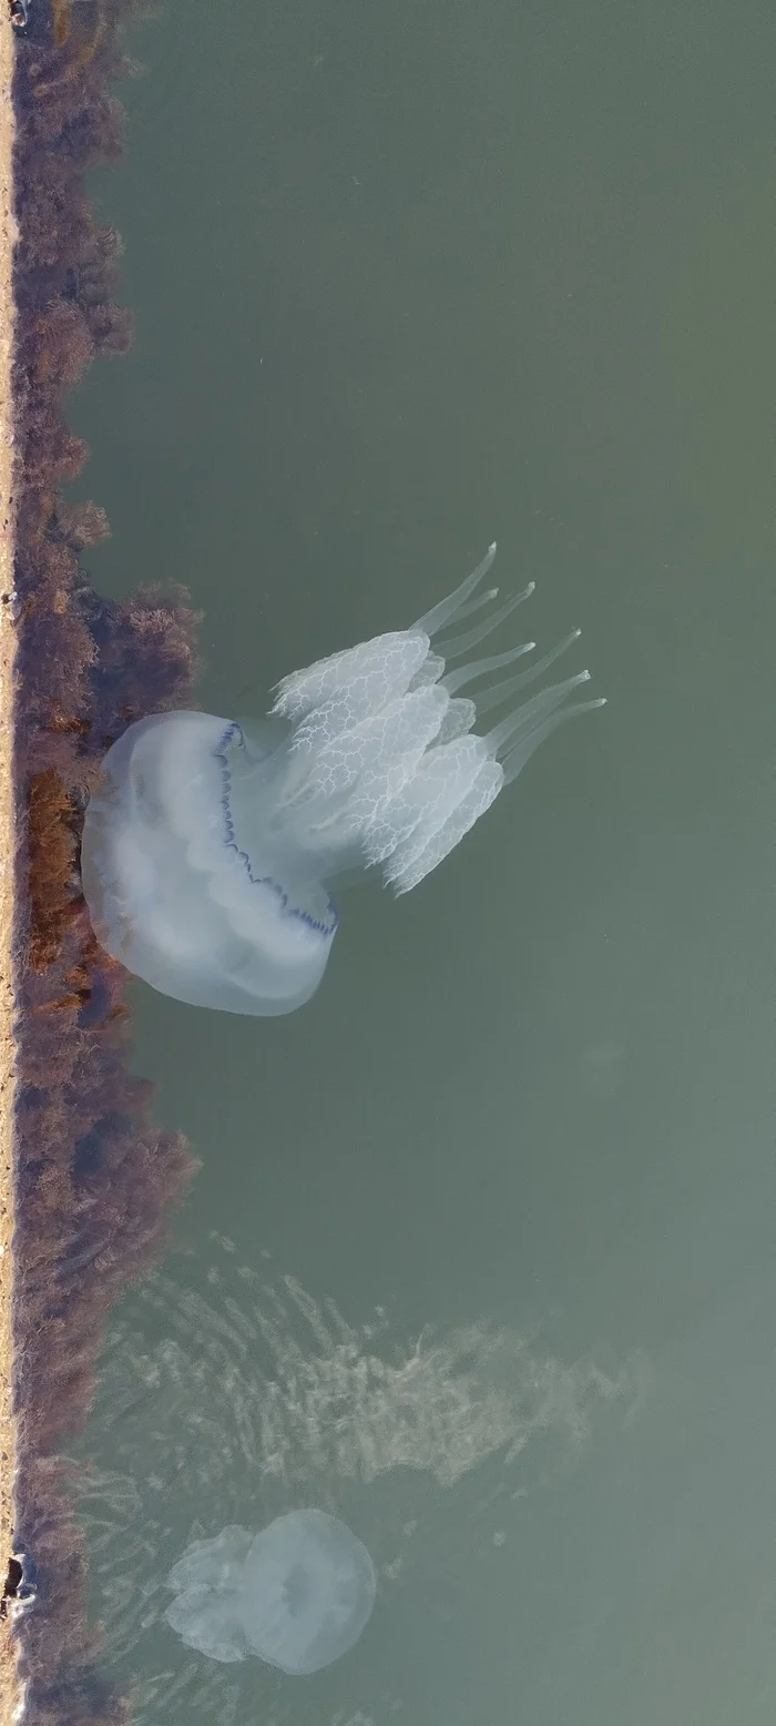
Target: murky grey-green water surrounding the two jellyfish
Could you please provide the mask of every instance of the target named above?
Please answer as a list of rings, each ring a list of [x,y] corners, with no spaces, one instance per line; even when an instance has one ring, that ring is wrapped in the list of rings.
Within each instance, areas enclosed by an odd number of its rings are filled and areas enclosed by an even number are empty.
[[[110,1672],[148,1726],[771,1726],[773,9],[190,0],[133,48],[97,585],[185,580],[202,704],[262,711],[497,537],[609,706],[350,896],[300,1013],[136,986],[202,1170],[88,1433]],[[372,1553],[355,1652],[183,1648],[188,1540],[295,1503]]]

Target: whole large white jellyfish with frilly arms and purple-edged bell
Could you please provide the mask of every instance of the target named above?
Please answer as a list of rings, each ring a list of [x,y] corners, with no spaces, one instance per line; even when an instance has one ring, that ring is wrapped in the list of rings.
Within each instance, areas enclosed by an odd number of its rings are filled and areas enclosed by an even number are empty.
[[[579,635],[459,694],[536,646],[464,658],[535,587],[495,609],[497,589],[472,597],[493,557],[495,545],[412,628],[285,677],[264,721],[164,713],[129,725],[105,756],[81,847],[90,917],[114,958],[178,1001],[291,1013],[326,970],[343,875],[379,868],[409,892],[557,725],[604,704],[567,702],[590,677],[578,671],[472,730]]]

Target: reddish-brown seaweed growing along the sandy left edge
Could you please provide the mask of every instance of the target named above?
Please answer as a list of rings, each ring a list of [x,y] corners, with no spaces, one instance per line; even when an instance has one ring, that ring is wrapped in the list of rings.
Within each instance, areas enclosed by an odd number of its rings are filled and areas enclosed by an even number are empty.
[[[17,1001],[16,1617],[26,1719],[121,1723],[86,1622],[67,1433],[83,1424],[105,1310],[148,1260],[191,1169],[157,1131],[126,1065],[126,973],[97,946],[78,879],[84,797],[109,744],[148,711],[191,704],[195,620],[183,590],[110,604],[79,556],[107,532],[62,485],[86,450],[64,399],[98,354],[129,342],[114,304],[119,240],[97,226],[83,173],[121,147],[110,85],[126,0],[34,0],[17,36],[16,606]]]

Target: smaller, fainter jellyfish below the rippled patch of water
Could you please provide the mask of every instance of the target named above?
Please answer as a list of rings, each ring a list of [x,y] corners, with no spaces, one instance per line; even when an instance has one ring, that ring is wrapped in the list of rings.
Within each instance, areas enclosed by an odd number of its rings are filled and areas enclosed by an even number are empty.
[[[359,1640],[374,1605],[374,1565],[324,1510],[290,1510],[253,1538],[224,1528],[172,1565],[167,1624],[212,1660],[260,1655],[281,1672],[317,1672]]]

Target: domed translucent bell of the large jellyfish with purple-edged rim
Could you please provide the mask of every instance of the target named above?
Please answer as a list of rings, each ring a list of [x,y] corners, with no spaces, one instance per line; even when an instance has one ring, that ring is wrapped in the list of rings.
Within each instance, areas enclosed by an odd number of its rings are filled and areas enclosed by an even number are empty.
[[[235,827],[241,778],[262,759],[229,720],[153,715],[109,749],[86,808],[81,880],[98,941],[193,1006],[290,1013],[329,956],[326,891],[309,882],[293,901],[288,872],[285,885],[260,873]]]

